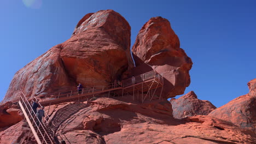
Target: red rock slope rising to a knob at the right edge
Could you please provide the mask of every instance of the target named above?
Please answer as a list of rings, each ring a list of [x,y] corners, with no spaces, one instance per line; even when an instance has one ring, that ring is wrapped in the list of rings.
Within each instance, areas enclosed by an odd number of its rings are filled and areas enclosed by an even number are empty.
[[[256,133],[256,79],[248,82],[249,93],[229,101],[209,116],[232,122],[239,127],[251,129]]]

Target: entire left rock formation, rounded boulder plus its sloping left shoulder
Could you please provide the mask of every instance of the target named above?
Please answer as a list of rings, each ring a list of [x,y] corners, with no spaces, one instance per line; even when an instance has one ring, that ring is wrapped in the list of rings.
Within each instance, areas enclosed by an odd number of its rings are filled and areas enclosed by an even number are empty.
[[[3,102],[84,86],[104,86],[133,67],[130,25],[113,10],[90,13],[78,22],[70,39],[52,47],[20,69]]]

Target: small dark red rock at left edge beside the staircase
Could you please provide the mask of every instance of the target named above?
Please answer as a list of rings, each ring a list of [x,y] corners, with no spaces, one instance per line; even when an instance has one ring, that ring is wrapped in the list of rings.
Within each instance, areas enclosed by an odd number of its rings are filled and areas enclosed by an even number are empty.
[[[0,128],[10,127],[23,119],[22,112],[11,102],[0,105]]]

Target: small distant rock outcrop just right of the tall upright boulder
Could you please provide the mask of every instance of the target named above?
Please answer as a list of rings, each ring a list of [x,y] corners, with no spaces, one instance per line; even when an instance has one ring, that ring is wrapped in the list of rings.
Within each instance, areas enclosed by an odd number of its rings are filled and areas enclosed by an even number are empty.
[[[170,100],[174,118],[185,118],[195,115],[208,115],[216,109],[210,101],[197,99],[197,95],[191,91],[178,99]]]

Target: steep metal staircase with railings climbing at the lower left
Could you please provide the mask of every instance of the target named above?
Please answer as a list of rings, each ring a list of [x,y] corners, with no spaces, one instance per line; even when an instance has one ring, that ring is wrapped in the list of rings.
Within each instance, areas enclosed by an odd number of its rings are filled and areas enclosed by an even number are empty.
[[[33,111],[30,102],[27,100],[23,93],[20,95],[19,105],[22,109],[22,112],[24,112],[24,115],[26,116],[27,122],[29,123],[32,132],[36,137],[37,142],[42,144],[54,143],[53,137],[51,137],[48,134],[48,131],[45,129],[45,124],[43,123],[43,121],[39,121],[39,118]]]

